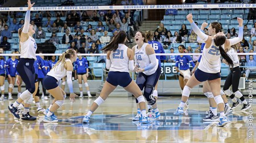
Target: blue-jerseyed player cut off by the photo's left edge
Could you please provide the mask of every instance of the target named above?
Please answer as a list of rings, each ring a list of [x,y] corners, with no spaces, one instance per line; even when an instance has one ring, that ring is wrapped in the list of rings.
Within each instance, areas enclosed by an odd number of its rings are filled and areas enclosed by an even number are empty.
[[[1,51],[3,51],[3,49]],[[2,93],[0,101],[2,101],[3,98],[5,98],[5,57],[3,56],[0,57],[0,89]]]

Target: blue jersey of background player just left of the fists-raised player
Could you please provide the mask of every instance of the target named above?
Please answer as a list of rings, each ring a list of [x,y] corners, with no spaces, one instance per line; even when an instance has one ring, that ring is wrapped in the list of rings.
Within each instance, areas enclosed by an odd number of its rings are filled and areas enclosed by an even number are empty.
[[[189,63],[191,63],[192,67],[195,67],[195,64],[193,63],[193,60],[191,59],[190,55],[183,55],[183,57],[180,57],[178,55],[176,57],[176,67],[179,67],[180,63],[180,70],[188,70],[189,69]]]

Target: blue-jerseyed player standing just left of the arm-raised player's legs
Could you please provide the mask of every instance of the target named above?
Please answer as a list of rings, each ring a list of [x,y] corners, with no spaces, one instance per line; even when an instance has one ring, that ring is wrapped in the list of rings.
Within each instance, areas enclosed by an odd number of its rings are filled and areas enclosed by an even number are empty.
[[[11,54],[15,54],[15,51],[13,51]],[[11,56],[6,62],[6,74],[8,76],[8,82],[9,82],[9,88],[8,88],[8,99],[12,100],[12,93],[13,93],[13,88],[15,84],[15,77],[16,77],[16,72],[17,72],[17,64],[19,60],[15,59],[15,56]]]

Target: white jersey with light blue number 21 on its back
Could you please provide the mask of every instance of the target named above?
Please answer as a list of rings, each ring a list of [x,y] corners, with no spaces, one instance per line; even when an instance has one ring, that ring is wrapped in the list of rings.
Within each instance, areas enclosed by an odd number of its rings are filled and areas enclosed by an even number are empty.
[[[109,71],[129,72],[127,49],[127,46],[118,44],[117,50],[111,51],[109,55],[111,61]]]

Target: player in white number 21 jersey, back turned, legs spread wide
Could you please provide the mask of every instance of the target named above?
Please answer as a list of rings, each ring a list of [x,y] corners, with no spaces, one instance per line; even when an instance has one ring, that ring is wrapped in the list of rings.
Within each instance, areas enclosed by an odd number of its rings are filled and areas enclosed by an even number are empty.
[[[134,71],[134,54],[131,49],[125,46],[126,32],[120,31],[114,39],[102,50],[107,53],[106,68],[109,69],[108,78],[98,97],[90,106],[90,110],[84,116],[82,123],[89,123],[90,116],[103,103],[117,85],[122,86],[127,92],[132,93],[139,101],[142,109],[140,122],[151,123],[146,116],[145,99],[138,85],[131,79],[129,71]]]

